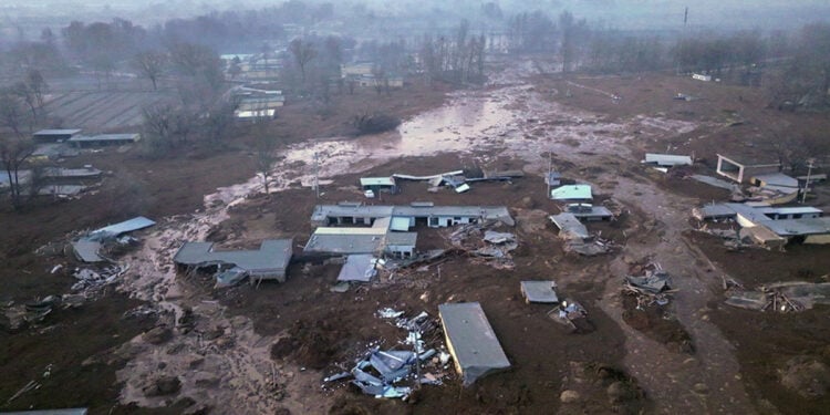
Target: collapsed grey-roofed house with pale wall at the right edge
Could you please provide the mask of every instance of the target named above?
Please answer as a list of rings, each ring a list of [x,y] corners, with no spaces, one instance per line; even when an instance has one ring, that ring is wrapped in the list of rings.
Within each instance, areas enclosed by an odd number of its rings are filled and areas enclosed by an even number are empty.
[[[830,243],[830,217],[809,206],[774,207],[768,204],[712,204],[695,208],[692,215],[702,221],[735,220],[739,237],[756,243],[780,248],[789,242]]]

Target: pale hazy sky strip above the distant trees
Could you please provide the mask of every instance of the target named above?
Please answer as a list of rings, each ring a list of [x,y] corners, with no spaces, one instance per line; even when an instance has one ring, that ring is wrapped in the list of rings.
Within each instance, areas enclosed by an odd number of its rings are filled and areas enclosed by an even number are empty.
[[[477,11],[487,1],[481,0],[304,0],[307,3],[329,1],[336,9],[350,8],[364,2],[384,13],[406,13],[434,8],[458,11],[460,14]],[[97,18],[104,13],[121,14],[141,21],[144,18],[168,19],[188,17],[230,8],[256,9],[279,4],[273,0],[3,0],[0,1],[0,17],[13,18],[15,11],[64,13],[66,10],[91,13]],[[578,18],[591,23],[604,22],[620,29],[673,29],[683,24],[683,11],[689,8],[689,25],[707,29],[792,29],[817,20],[830,20],[830,0],[494,0],[505,14],[540,9],[551,14],[570,10]],[[153,15],[154,3],[165,4],[165,15]],[[81,6],[80,8],[73,7]],[[107,7],[107,9],[104,9]],[[104,11],[106,10],[106,11]],[[181,13],[180,15],[166,15]],[[77,19],[77,15],[72,18]]]

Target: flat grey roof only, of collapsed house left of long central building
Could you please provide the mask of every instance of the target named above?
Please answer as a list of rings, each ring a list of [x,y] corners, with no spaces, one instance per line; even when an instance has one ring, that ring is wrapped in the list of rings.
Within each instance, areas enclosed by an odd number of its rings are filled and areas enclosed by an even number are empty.
[[[234,264],[249,272],[284,272],[291,260],[291,239],[269,239],[258,250],[214,251],[212,242],[185,242],[173,261],[186,266]]]

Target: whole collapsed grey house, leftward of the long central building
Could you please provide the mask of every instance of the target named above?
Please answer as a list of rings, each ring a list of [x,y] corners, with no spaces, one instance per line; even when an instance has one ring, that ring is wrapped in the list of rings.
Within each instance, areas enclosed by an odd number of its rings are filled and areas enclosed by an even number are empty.
[[[257,250],[214,251],[212,242],[185,242],[173,257],[180,270],[216,268],[217,286],[251,281],[286,281],[292,257],[292,239],[269,239]]]

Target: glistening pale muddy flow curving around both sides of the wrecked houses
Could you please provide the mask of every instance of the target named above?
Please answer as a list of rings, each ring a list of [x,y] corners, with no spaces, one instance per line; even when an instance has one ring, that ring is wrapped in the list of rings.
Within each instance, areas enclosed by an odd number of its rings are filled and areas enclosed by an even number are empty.
[[[631,142],[637,137],[664,136],[695,128],[694,124],[654,117],[610,123],[601,115],[551,103],[550,96],[543,94],[556,94],[556,91],[537,92],[517,76],[532,68],[523,62],[518,72],[507,71],[500,75],[499,82],[506,86],[458,93],[447,105],[405,122],[394,133],[357,139],[311,139],[298,144],[287,149],[284,160],[274,167],[272,189],[280,191],[297,180],[309,186],[315,172],[321,183],[325,183],[329,177],[363,172],[393,158],[449,152],[484,158],[494,154],[521,158],[527,162],[529,173],[547,168],[544,154],[548,152],[578,165],[602,165],[602,160],[598,162],[602,157],[630,157]],[[622,183],[624,185],[614,194],[630,204],[643,205],[642,200],[631,197],[635,189],[656,191],[651,185]],[[221,305],[199,290],[189,288],[186,280],[177,278],[172,266],[173,255],[181,242],[204,240],[212,226],[228,217],[229,207],[245,203],[246,196],[257,191],[262,191],[258,177],[218,189],[205,197],[203,211],[164,221],[146,240],[143,250],[129,260],[134,272],[124,279],[122,290],[149,301],[163,312],[162,321],[169,326],[178,325],[184,310],[193,310],[196,330],[177,330],[174,339],[163,347],[149,346],[141,338],[133,339],[127,347],[131,361],[118,373],[120,381],[125,382],[123,403],[136,402],[148,407],[168,404],[163,397],[146,397],[142,393],[142,387],[160,372],[181,378],[180,396],[190,396],[212,406],[218,413],[272,413],[281,406],[292,413],[321,413],[328,408],[329,403],[322,397],[313,402],[303,398],[319,387],[315,386],[319,374],[311,371],[300,373],[297,367],[274,367],[268,353],[274,338],[256,334],[246,318],[226,318]],[[667,200],[667,196],[654,194],[649,205],[663,206],[655,203],[660,199]],[[667,225],[672,230],[666,234],[672,240],[656,247],[658,253],[692,258],[687,250],[672,250],[678,245],[674,238],[679,238],[677,229],[682,225],[677,221],[686,208],[683,204],[667,206],[665,215],[649,210],[654,216],[672,218]],[[676,262],[678,267],[684,267],[683,263],[682,260]],[[688,292],[688,299],[678,295],[678,318],[692,328],[698,350],[706,353],[699,354],[699,361],[688,362],[685,356],[666,353],[661,345],[651,344],[639,333],[627,330],[625,364],[641,380],[661,412],[736,412],[736,408],[750,407],[738,382],[730,382],[728,387],[723,384],[737,373],[737,363],[717,330],[699,321],[698,309],[704,307],[708,294],[695,267],[685,267],[688,279],[684,280],[682,289]],[[619,307],[603,307],[625,326],[619,319]],[[206,340],[198,334],[217,330],[221,332],[218,339]],[[658,359],[654,360],[655,356]],[[655,366],[655,362],[662,361],[666,362],[665,367]],[[280,377],[287,372],[291,373],[288,387],[293,391],[289,391],[289,398],[278,402],[269,393],[269,385],[273,381],[284,383]],[[710,392],[693,392],[696,383],[707,385]],[[678,396],[682,398],[675,400]]]

